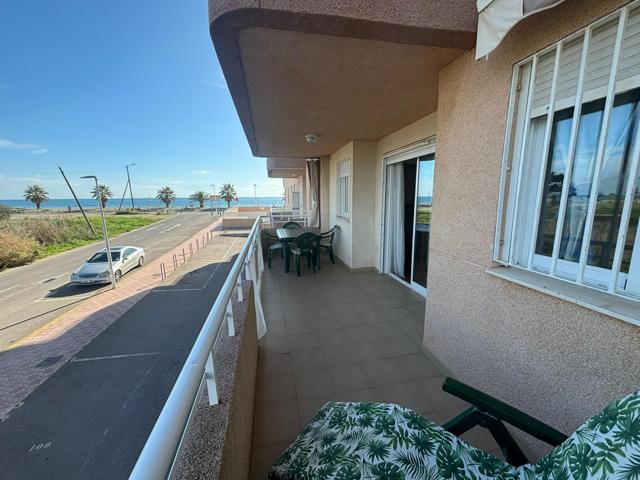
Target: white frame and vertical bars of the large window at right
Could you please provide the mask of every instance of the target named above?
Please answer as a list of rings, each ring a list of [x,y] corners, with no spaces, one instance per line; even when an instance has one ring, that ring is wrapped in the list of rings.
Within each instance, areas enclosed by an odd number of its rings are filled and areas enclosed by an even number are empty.
[[[505,144],[502,158],[502,172],[500,178],[500,191],[498,196],[498,215],[496,222],[496,236],[493,249],[493,259],[507,267],[521,268],[529,270],[540,275],[557,278],[572,284],[577,284],[586,288],[595,288],[605,291],[612,295],[630,298],[632,300],[640,300],[640,226],[636,232],[636,240],[633,245],[633,253],[631,257],[631,265],[629,273],[621,273],[620,265],[624,253],[624,245],[626,241],[626,230],[629,225],[631,209],[635,190],[640,188],[635,185],[638,177],[639,157],[640,157],[640,128],[636,132],[636,138],[633,151],[630,152],[630,167],[628,180],[626,184],[624,207],[621,212],[621,221],[616,241],[615,254],[613,258],[613,266],[611,270],[600,267],[594,267],[587,264],[588,247],[591,242],[591,233],[593,227],[593,218],[597,203],[597,192],[599,188],[601,167],[605,154],[606,137],[608,133],[609,121],[613,110],[615,96],[618,93],[628,91],[630,89],[640,88],[640,78],[635,76],[618,82],[616,75],[618,73],[618,64],[621,56],[622,40],[624,38],[625,27],[629,13],[637,8],[640,2],[634,1],[619,10],[603,17],[584,29],[569,35],[561,41],[553,44],[542,51],[532,55],[531,57],[518,62],[514,65],[512,89],[509,99],[509,110],[507,115],[507,127],[505,132]],[[585,70],[588,59],[588,47],[591,41],[591,34],[594,29],[605,24],[617,20],[617,32],[615,45],[611,61],[611,71],[606,89],[601,88],[594,97],[593,92],[584,92]],[[549,142],[551,128],[553,125],[554,114],[557,110],[566,108],[567,105],[558,105],[556,103],[556,81],[558,78],[559,62],[563,45],[572,40],[582,37],[583,47],[580,58],[580,67],[578,69],[577,91],[575,94],[575,105],[573,111],[573,122],[571,126],[571,134],[569,140],[569,150],[567,155],[567,166],[565,170],[565,178],[563,182],[563,191],[560,199],[558,220],[556,224],[556,233],[554,237],[554,246],[551,257],[543,257],[535,253],[535,242],[538,233],[538,221],[540,218],[540,209],[542,202],[542,188],[544,184],[545,169],[548,161]],[[525,148],[527,145],[527,135],[530,130],[530,122],[534,116],[531,115],[532,97],[534,80],[536,79],[536,67],[539,58],[544,55],[554,53],[555,61],[553,67],[553,76],[551,80],[549,105],[546,113],[546,125],[544,128],[544,140],[541,144],[542,157],[540,162],[540,172],[535,170],[537,165],[531,164],[526,169],[534,168],[533,175],[527,176],[525,172],[525,162],[529,150]],[[606,90],[606,91],[605,91]],[[586,224],[584,227],[582,249],[580,252],[580,261],[578,263],[568,262],[558,258],[559,244],[561,241],[561,229],[564,223],[564,214],[566,207],[566,197],[568,185],[571,182],[571,168],[573,157],[576,150],[577,136],[579,130],[579,120],[582,105],[589,100],[602,98],[605,100],[602,125],[597,146],[597,156],[595,169],[593,174],[593,183],[591,195],[589,197],[589,205],[587,210]],[[570,106],[570,105],[569,105]],[[516,114],[517,111],[517,114]],[[549,113],[553,112],[553,113]],[[539,118],[539,117],[538,117]],[[537,175],[537,176],[536,176]],[[523,228],[516,228],[518,224],[518,201],[520,199],[521,188],[524,185],[530,185],[534,182],[536,191],[535,205],[531,205],[534,209],[532,226],[525,231]],[[529,187],[530,188],[530,187]],[[508,192],[507,192],[508,189]],[[522,219],[520,219],[522,223]],[[523,240],[524,239],[524,243]],[[522,248],[527,245],[528,262],[523,265],[521,262],[516,263],[515,254],[516,246]],[[523,248],[524,250],[524,248]],[[526,252],[525,252],[526,253]],[[522,250],[518,251],[522,255]]]

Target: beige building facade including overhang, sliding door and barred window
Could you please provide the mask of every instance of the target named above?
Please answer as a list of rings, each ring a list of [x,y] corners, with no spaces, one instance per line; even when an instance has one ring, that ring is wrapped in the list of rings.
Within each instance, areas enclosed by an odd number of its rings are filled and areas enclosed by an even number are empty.
[[[640,378],[640,5],[555,2],[476,59],[478,3],[212,0],[211,31],[270,175],[319,159],[339,260],[426,296],[444,372],[572,431]]]

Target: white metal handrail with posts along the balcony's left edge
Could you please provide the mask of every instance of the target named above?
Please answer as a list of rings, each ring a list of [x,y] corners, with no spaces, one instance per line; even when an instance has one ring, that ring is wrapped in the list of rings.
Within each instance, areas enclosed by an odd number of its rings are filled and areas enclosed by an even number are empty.
[[[258,336],[261,337],[266,332],[260,303],[260,277],[264,268],[260,243],[261,223],[262,219],[258,217],[207,315],[169,398],[138,457],[130,479],[172,478],[173,468],[189,430],[191,415],[201,388],[206,386],[210,405],[218,403],[213,350],[225,323],[229,336],[235,335],[233,296],[235,294],[238,301],[243,301],[243,272],[246,279],[253,281]]]

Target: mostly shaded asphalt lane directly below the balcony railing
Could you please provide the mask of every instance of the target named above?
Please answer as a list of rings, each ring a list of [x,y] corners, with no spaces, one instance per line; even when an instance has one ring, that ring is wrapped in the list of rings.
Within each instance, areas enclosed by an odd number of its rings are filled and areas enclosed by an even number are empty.
[[[245,240],[209,242],[12,410],[0,479],[126,479]]]

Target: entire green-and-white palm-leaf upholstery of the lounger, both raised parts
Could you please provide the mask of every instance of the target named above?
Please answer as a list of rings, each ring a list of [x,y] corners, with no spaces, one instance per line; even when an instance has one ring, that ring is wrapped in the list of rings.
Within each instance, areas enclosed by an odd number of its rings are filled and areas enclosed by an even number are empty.
[[[640,480],[640,395],[611,403],[535,464],[513,467],[412,410],[327,403],[269,480]]]

